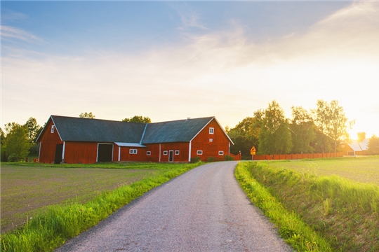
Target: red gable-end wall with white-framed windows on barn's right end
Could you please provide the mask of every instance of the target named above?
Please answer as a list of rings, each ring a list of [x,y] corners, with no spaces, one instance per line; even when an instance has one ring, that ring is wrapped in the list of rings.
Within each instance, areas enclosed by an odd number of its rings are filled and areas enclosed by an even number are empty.
[[[210,127],[214,128],[213,134],[209,134]],[[212,141],[209,141],[209,139],[212,139]],[[230,140],[216,120],[213,119],[211,123],[208,123],[192,140],[191,158],[199,156],[202,161],[206,161],[211,157],[216,160],[224,160],[224,155],[229,155],[229,143]],[[203,155],[197,155],[197,151],[203,151]],[[224,155],[218,155],[218,151],[223,151]]]

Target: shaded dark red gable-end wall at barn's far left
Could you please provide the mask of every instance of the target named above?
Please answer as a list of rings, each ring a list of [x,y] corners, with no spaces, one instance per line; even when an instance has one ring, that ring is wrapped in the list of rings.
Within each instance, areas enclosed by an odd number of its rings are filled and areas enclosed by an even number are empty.
[[[53,163],[55,159],[55,148],[57,144],[63,144],[60,140],[58,130],[55,128],[54,133],[51,133],[52,120],[48,120],[46,130],[41,136],[41,150],[39,153],[39,162]]]

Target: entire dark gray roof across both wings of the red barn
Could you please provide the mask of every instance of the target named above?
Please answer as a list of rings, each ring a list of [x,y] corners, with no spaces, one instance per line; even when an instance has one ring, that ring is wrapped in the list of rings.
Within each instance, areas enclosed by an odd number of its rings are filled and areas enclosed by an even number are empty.
[[[215,118],[206,117],[145,124],[51,116],[62,141],[95,141],[124,145],[189,142],[213,119]],[[39,135],[37,142],[45,131],[46,128]]]

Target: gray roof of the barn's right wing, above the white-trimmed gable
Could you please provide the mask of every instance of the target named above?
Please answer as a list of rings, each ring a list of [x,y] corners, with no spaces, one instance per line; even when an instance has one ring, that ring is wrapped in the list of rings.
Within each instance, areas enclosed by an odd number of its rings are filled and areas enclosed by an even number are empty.
[[[164,123],[149,123],[142,144],[191,141],[213,117],[175,120]]]

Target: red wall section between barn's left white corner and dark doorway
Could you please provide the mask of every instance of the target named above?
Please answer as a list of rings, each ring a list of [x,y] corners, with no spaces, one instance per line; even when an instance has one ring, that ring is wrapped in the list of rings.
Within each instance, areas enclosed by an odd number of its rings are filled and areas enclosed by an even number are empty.
[[[93,164],[97,160],[98,143],[66,141],[65,162],[68,164]]]

